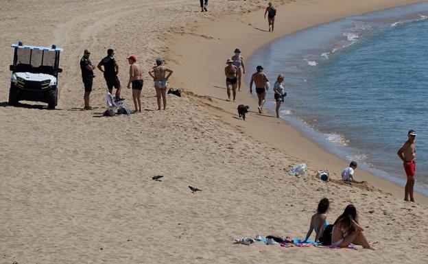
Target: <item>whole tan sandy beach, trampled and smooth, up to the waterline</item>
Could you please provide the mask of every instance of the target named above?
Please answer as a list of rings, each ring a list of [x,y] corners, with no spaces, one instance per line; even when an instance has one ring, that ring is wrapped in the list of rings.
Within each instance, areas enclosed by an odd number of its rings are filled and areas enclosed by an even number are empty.
[[[424,263],[426,197],[404,202],[401,187],[362,170],[368,188],[316,179],[318,169],[339,179],[346,161],[272,113],[237,119],[238,104],[254,111],[256,102],[246,86],[236,103],[226,102],[223,72],[236,47],[248,58],[285,34],[416,2],[276,1],[274,33],[265,32],[266,1],[210,0],[203,13],[198,1],[185,0],[2,3],[0,263]],[[8,106],[10,44],[19,40],[64,49],[57,110]],[[145,74],[142,114],[99,117],[106,85],[96,71],[91,102],[98,108],[80,110],[82,52],[90,49],[97,64],[108,48],[128,107],[130,55],[145,73],[165,58],[183,97],[170,95],[167,110],[155,110]],[[308,176],[287,175],[299,163]],[[256,234],[302,239],[322,197],[331,200],[330,222],[355,204],[377,250],[234,244]]]

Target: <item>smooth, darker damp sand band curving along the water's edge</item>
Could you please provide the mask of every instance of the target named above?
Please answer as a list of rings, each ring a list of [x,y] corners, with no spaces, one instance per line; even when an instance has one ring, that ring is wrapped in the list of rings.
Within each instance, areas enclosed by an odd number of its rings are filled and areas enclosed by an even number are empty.
[[[267,22],[263,19],[262,9],[256,12],[248,12],[239,18],[226,14],[221,20],[204,22],[203,25],[198,25],[191,34],[181,34],[170,41],[169,47],[171,58],[173,58],[171,64],[174,65],[174,69],[177,69],[174,80],[180,83],[185,91],[191,91],[205,98],[210,97],[211,101],[206,100],[205,103],[221,108],[219,117],[225,123],[245,131],[248,136],[280,149],[287,156],[296,158],[296,162],[298,160],[298,162],[306,163],[311,170],[328,169],[331,178],[339,178],[342,169],[348,166],[348,160],[324,149],[287,121],[276,120],[272,112],[268,112],[268,115],[265,115],[266,112],[263,115],[255,114],[254,108],[256,108],[257,103],[248,93],[246,82],[243,82],[241,92],[237,92],[236,103],[229,103],[223,99],[226,98],[224,73],[222,73],[223,60],[233,54],[232,51],[235,47],[239,47],[243,51],[241,55],[245,61],[248,61],[257,49],[277,38],[302,29],[343,19],[346,16],[355,16],[418,2],[421,1],[378,1],[377,3],[346,1],[343,3],[346,8],[331,8],[321,11],[322,6],[333,5],[337,1],[329,1],[327,4],[324,1],[316,1],[311,5],[296,2],[287,3],[276,7],[278,12],[274,33],[263,32],[264,28],[267,28]],[[302,13],[306,14],[303,19]],[[204,47],[204,49],[200,47]],[[188,59],[180,61],[178,57]],[[185,74],[189,71],[195,73],[192,76],[199,77],[184,80]],[[253,69],[247,69],[246,75],[252,74],[253,71]],[[246,78],[243,77],[243,80]],[[235,109],[238,104],[250,106],[250,115],[246,122],[235,117]],[[287,134],[287,139],[284,139],[284,134]],[[395,182],[376,176],[364,169],[358,169],[356,173],[358,180],[366,180],[376,189],[392,193],[394,197],[402,199],[403,187]],[[415,192],[415,200],[420,204],[428,204],[428,197],[418,192]]]

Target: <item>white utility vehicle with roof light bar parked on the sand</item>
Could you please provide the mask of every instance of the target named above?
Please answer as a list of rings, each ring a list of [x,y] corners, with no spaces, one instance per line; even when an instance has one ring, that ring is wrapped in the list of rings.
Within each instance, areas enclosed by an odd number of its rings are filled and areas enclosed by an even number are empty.
[[[58,73],[62,49],[13,44],[14,60],[10,65],[9,104],[18,101],[43,101],[47,108],[55,109],[58,104]]]

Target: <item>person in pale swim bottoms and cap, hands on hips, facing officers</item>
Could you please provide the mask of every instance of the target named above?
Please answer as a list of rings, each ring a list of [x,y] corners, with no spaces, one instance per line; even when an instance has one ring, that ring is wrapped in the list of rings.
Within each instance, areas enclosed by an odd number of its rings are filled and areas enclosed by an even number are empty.
[[[156,59],[156,66],[149,71],[149,75],[154,81],[154,89],[156,90],[156,97],[158,99],[158,110],[160,110],[161,99],[163,100],[163,110],[167,108],[167,86],[168,79],[172,73],[171,69],[163,66],[163,59],[161,58]]]

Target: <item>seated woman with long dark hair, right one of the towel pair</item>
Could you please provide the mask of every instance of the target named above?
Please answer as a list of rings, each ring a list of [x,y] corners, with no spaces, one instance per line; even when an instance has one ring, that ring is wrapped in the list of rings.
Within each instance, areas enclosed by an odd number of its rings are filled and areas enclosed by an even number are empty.
[[[363,248],[375,250],[363,234],[363,227],[358,224],[357,208],[353,204],[346,206],[344,213],[337,217],[331,232],[331,246],[346,248],[350,243],[362,245]]]

